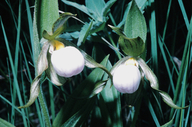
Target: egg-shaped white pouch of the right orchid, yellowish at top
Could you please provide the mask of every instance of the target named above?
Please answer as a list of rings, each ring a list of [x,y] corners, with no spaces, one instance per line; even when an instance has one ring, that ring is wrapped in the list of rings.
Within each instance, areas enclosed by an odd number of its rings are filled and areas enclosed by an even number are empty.
[[[113,74],[113,85],[121,93],[134,93],[141,81],[138,64],[133,58],[121,64]]]

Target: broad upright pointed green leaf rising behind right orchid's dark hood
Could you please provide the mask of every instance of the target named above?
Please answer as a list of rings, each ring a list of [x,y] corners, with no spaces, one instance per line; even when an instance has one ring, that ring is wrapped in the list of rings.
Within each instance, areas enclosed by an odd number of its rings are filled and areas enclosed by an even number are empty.
[[[131,8],[125,21],[124,33],[128,38],[140,37],[143,42],[146,41],[147,25],[135,0],[132,1]]]

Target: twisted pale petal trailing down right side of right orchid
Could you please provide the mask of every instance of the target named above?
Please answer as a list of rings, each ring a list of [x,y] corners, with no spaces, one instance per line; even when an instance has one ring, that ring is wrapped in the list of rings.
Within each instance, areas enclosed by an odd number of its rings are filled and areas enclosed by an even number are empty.
[[[158,83],[158,79],[156,77],[156,75],[153,73],[153,71],[147,66],[147,64],[145,63],[145,61],[141,58],[137,58],[137,62],[139,64],[139,66],[141,67],[144,75],[145,75],[145,78],[150,82],[150,85],[151,85],[151,88],[153,88],[154,90],[158,91],[159,94],[161,95],[163,101],[169,105],[170,107],[172,108],[175,108],[175,109],[183,109],[183,108],[186,108],[188,106],[185,106],[185,107],[179,107],[177,106],[172,98],[164,91],[162,90],[159,90],[159,83]]]

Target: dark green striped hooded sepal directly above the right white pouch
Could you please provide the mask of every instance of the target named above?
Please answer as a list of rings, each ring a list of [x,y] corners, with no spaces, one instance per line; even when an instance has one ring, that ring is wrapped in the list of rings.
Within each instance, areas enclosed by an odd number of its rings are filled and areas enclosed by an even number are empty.
[[[108,26],[111,27],[120,36],[118,42],[126,55],[136,57],[144,52],[145,43],[139,36],[136,38],[128,38],[123,33],[121,28],[113,27],[111,25]]]

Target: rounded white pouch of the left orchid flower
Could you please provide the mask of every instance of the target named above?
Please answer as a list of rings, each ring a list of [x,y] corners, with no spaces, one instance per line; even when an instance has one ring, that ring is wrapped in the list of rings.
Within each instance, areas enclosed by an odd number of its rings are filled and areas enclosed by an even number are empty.
[[[53,51],[51,62],[56,73],[62,77],[72,77],[81,73],[85,65],[81,52],[72,46]]]

